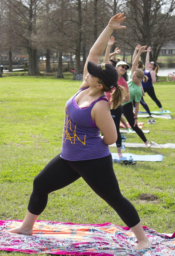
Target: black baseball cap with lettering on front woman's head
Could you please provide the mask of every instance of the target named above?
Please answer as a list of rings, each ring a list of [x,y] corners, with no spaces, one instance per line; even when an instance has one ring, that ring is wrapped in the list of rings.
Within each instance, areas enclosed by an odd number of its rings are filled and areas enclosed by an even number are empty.
[[[96,64],[88,61],[87,68],[90,75],[101,78],[107,87],[112,89],[117,86],[119,75],[113,65],[107,63]]]

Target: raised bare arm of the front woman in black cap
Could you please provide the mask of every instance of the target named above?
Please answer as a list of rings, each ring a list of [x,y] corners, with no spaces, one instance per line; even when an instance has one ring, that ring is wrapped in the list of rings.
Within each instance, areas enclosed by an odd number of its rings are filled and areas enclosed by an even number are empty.
[[[87,69],[88,61],[90,60],[98,64],[100,57],[106,48],[108,39],[111,36],[113,30],[126,28],[125,26],[120,26],[120,23],[126,19],[126,17],[123,17],[123,16],[124,16],[124,13],[118,13],[115,16],[113,16],[109,20],[109,24],[107,25],[107,27],[103,30],[103,32],[100,34],[100,36],[96,40],[95,44],[90,49],[88,58],[84,66],[83,80],[85,76],[88,74],[88,69]]]

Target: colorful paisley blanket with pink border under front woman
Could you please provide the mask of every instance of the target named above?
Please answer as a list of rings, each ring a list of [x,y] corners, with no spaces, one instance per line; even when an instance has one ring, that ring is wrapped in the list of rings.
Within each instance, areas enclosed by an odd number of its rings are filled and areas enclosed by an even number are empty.
[[[33,235],[8,233],[22,221],[0,221],[0,250],[36,254],[67,254],[113,256],[123,248],[134,256],[174,256],[175,233],[172,237],[160,234],[151,228],[144,231],[151,242],[148,249],[134,250],[137,239],[128,227],[112,223],[75,224],[52,221],[36,221]]]

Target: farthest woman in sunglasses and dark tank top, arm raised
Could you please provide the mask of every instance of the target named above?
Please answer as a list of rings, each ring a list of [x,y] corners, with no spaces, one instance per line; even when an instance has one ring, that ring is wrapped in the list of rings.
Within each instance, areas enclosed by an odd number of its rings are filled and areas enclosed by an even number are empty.
[[[151,47],[149,46],[147,48],[147,56],[146,56],[146,62],[145,62],[145,76],[148,77],[148,81],[144,83],[142,81],[142,86],[144,92],[147,92],[148,95],[151,97],[151,99],[156,103],[156,105],[160,108],[160,111],[164,112],[162,105],[158,98],[155,95],[153,83],[156,82],[156,74],[158,73],[159,66],[156,64],[156,62],[151,61],[149,62],[149,53],[151,51]]]

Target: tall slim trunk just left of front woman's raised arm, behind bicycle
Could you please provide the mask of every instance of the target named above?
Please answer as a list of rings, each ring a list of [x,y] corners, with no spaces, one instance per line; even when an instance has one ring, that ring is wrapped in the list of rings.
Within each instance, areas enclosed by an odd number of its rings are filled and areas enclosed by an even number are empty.
[[[75,73],[73,80],[75,80],[76,75],[81,74],[80,67],[80,51],[81,51],[81,0],[78,0],[78,31],[79,36],[77,38],[76,50],[75,50]]]

